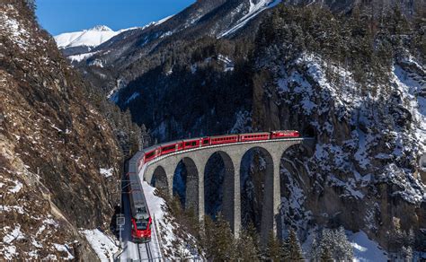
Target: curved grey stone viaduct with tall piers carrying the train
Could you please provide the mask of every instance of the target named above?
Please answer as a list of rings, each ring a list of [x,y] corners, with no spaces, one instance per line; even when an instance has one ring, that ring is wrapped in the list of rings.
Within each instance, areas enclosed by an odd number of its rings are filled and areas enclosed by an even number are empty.
[[[225,164],[222,214],[235,236],[241,228],[240,170],[244,154],[253,149],[261,151],[266,161],[266,178],[262,201],[261,238],[267,240],[271,230],[277,232],[280,212],[280,159],[292,145],[305,144],[309,138],[287,138],[235,144],[219,144],[170,153],[146,163],[139,176],[156,188],[164,188],[172,196],[173,176],[179,162],[187,170],[186,204],[204,218],[204,175],[209,158],[218,153]]]

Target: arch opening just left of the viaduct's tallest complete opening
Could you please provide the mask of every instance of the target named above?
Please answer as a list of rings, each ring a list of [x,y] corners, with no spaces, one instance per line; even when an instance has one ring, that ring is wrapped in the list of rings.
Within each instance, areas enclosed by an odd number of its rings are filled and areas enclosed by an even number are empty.
[[[222,151],[212,153],[204,171],[205,213],[216,219],[220,212],[232,224],[235,205],[235,170],[231,157]]]

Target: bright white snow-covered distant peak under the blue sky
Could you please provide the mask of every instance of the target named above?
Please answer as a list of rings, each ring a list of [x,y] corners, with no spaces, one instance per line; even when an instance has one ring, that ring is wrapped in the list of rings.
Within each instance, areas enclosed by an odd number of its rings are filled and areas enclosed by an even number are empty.
[[[122,31],[130,29],[112,31],[104,25],[97,25],[89,30],[66,32],[55,37],[58,48],[74,48],[80,46],[97,47],[103,42],[118,35]]]

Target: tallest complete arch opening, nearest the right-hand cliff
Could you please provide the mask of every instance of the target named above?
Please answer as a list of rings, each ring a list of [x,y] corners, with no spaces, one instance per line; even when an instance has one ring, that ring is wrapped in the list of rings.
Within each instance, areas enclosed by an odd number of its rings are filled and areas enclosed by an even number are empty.
[[[262,147],[244,153],[240,168],[241,223],[250,224],[267,239],[273,229],[273,159]],[[265,236],[263,236],[265,235]]]

